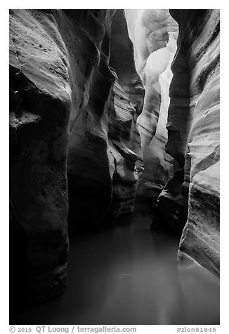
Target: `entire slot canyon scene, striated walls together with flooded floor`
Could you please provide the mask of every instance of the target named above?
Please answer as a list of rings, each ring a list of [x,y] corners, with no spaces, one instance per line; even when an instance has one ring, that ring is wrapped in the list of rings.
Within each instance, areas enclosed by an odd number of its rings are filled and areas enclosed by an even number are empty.
[[[10,10],[10,323],[219,323],[219,10]]]

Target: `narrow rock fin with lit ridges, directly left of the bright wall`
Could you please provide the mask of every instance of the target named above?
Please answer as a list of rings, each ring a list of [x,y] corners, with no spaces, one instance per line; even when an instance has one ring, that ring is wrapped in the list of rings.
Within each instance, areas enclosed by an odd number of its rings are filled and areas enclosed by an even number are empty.
[[[113,105],[109,113],[109,147],[114,159],[112,178],[113,218],[133,213],[143,154],[136,120],[143,109],[144,88],[136,72],[133,44],[123,10],[112,20],[110,68],[115,69]]]

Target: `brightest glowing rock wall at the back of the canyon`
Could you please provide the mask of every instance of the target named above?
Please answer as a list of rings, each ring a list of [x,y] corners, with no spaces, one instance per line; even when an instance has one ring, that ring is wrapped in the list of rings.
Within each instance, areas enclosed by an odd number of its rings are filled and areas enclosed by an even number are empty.
[[[136,69],[145,87],[138,129],[143,147],[144,172],[136,194],[137,212],[155,208],[157,196],[171,178],[173,158],[165,152],[171,61],[176,52],[178,25],[169,10],[126,10]]]

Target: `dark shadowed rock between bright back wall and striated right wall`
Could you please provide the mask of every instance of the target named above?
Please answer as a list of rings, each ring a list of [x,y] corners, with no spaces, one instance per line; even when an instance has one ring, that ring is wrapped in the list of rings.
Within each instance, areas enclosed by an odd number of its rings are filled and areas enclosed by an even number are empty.
[[[181,28],[180,28],[181,29]],[[184,181],[185,149],[190,126],[190,70],[183,44],[178,36],[178,49],[171,64],[173,78],[169,89],[171,98],[166,121],[168,140],[166,152],[174,157],[174,173],[157,198],[152,229],[181,234],[188,215],[188,185]]]

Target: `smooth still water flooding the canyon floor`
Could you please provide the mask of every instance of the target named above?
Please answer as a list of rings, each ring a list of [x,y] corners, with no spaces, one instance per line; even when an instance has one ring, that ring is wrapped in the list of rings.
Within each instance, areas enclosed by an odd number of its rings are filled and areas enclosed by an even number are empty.
[[[150,231],[149,216],[131,225],[70,236],[63,298],[18,309],[11,324],[219,324],[219,279],[176,262],[178,236]]]

